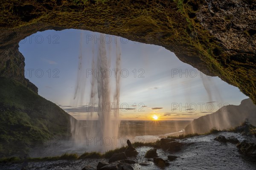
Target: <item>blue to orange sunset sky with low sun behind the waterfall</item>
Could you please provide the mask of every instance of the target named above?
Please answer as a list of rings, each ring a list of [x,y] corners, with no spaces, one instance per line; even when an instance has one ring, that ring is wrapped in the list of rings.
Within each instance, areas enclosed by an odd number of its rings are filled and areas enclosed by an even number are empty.
[[[84,68],[91,69],[92,48],[100,36],[98,33],[48,30],[37,32],[19,44],[25,57],[25,77],[38,87],[39,95],[58,103],[76,119],[86,119],[89,112],[85,111],[85,105],[90,102],[90,77],[84,80],[84,100],[73,100],[81,35]],[[122,51],[124,72],[119,106],[124,109],[119,110],[121,120],[192,120],[215,112],[223,105],[239,105],[242,99],[248,98],[220,78],[207,77],[181,62],[163,47],[112,35],[107,36],[106,41],[110,37],[110,55],[115,54],[114,40],[119,41]],[[111,59],[111,68],[114,62],[114,58]],[[126,106],[129,109],[125,109]]]

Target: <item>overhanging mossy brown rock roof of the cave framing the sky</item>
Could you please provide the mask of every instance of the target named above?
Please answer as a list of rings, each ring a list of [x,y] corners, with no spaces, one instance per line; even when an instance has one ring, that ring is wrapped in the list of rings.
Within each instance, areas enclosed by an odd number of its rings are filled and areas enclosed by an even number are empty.
[[[256,103],[255,6],[254,0],[9,0],[0,10],[0,76],[26,85],[18,42],[36,31],[76,28],[161,45]]]

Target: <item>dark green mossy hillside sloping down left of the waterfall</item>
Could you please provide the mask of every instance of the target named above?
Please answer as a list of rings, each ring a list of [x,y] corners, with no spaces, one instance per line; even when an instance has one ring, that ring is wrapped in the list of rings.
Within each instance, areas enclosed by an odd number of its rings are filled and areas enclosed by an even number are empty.
[[[70,115],[20,82],[0,78],[0,157],[70,136]]]

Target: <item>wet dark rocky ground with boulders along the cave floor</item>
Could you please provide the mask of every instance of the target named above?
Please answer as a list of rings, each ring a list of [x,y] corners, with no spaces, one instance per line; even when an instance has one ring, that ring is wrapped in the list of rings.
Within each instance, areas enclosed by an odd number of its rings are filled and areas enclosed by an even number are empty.
[[[128,157],[131,161],[114,161],[110,163],[112,167],[108,167],[110,166],[108,165],[105,168],[102,167],[102,170],[107,170],[108,168],[110,168],[110,170],[118,170],[113,167],[119,167],[119,169],[121,169],[120,167],[123,167],[124,170],[254,170],[256,161],[254,161],[251,156],[244,156],[244,154],[236,147],[236,140],[233,137],[230,138],[231,136],[234,136],[239,142],[247,140],[247,142],[256,143],[256,138],[254,136],[242,136],[240,133],[231,132],[194,136],[187,139],[176,140],[171,142],[172,144],[168,143],[170,141],[161,140],[161,148],[157,148],[157,157],[155,157],[153,151],[153,155],[148,153],[148,158],[145,158],[147,151],[153,147],[137,147],[137,156]],[[255,150],[253,154],[255,156]],[[118,158],[124,159],[121,158],[121,156],[117,156],[117,159]],[[89,165],[92,169],[96,169],[99,161],[108,162],[109,160],[81,159],[72,161],[29,162],[27,167],[29,170],[82,170]],[[20,170],[22,165],[22,163],[1,163],[0,169]],[[84,170],[90,170],[90,168],[87,167],[87,169]]]

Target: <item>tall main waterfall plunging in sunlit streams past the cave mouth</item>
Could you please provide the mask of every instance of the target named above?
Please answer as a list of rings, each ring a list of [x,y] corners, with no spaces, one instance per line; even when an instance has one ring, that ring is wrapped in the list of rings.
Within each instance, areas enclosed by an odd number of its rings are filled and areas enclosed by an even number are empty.
[[[87,115],[87,120],[81,121],[72,118],[71,133],[76,146],[84,147],[88,151],[104,152],[118,147],[121,50],[119,42],[116,42],[116,62],[113,65],[114,69],[111,69],[113,50],[111,43],[104,43],[104,34],[100,34],[100,37],[101,40],[96,41],[98,43],[95,45],[93,44],[91,74],[88,77],[87,73],[85,74],[87,68],[84,68],[83,62],[89,60],[84,59],[82,54],[83,35],[81,34],[74,101],[83,103],[83,99],[89,96],[90,105],[87,103],[85,106],[87,111],[83,113]],[[90,81],[90,85],[84,87],[85,82],[88,81]],[[90,93],[86,93],[85,88],[90,88]]]

